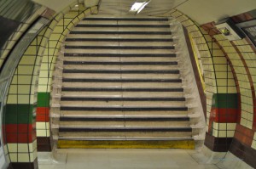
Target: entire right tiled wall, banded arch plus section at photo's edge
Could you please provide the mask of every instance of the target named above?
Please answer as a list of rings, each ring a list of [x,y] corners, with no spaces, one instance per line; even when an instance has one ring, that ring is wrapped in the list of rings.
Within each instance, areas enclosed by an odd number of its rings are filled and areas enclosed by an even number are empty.
[[[215,152],[230,151],[256,167],[255,47],[247,38],[230,42],[213,22],[196,25],[176,9],[169,14],[183,23],[201,54],[207,95],[205,145]],[[233,20],[253,19],[247,16]]]

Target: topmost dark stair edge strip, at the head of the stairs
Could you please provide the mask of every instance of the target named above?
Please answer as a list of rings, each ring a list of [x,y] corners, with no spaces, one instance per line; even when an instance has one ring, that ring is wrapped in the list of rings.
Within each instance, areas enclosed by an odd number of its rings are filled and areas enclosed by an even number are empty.
[[[83,20],[168,21],[167,18],[84,18]]]

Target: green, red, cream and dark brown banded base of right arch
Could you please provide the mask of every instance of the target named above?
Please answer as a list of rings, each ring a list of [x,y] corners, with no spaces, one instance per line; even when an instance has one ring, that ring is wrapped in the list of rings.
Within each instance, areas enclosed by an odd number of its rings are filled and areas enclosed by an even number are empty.
[[[216,93],[212,96],[212,109],[205,144],[209,149],[226,152],[236,130],[238,115],[237,93]]]

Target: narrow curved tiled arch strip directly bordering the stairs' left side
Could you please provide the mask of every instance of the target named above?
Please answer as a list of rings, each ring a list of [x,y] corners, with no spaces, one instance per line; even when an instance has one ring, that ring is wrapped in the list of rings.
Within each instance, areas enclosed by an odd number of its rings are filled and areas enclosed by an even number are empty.
[[[83,3],[80,3],[78,8],[71,8],[71,10],[70,8],[71,7],[68,7],[66,10],[62,11],[61,14],[56,15],[44,34],[47,44],[44,50],[38,79],[38,151],[51,151],[52,149],[49,129],[50,93],[55,60],[59,54],[62,42],[67,36],[67,33],[71,31],[79,20],[82,20],[87,14],[90,14],[91,11],[96,10],[96,7],[85,9]]]

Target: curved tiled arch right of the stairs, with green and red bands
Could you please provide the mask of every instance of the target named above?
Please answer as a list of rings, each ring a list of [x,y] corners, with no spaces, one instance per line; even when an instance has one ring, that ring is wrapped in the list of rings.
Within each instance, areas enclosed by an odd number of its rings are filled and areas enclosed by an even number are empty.
[[[176,9],[168,13],[179,20],[189,31],[200,57],[201,74],[204,78],[207,96],[207,144],[216,151],[227,151],[234,137],[237,114],[235,103],[237,90],[230,61],[225,57],[218,43],[212,40],[209,32]],[[231,104],[232,103],[232,104]],[[217,141],[217,139],[221,141]]]

